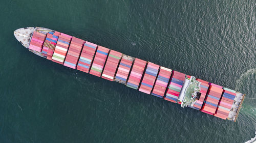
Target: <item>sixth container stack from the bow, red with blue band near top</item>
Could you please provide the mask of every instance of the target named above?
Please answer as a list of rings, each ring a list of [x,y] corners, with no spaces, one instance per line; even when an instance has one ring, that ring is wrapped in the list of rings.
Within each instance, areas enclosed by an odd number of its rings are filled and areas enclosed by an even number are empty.
[[[90,70],[90,74],[100,77],[103,67],[105,65],[106,58],[109,54],[109,48],[98,46],[97,52],[94,56],[93,64]]]

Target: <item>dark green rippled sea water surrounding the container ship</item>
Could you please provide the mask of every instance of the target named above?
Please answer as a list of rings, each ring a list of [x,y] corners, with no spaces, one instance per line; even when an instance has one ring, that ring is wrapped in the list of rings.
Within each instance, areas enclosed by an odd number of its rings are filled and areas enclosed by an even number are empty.
[[[245,142],[256,130],[255,1],[1,1],[0,142]],[[236,123],[29,52],[42,26],[246,94]],[[252,139],[253,140],[253,139]],[[255,140],[254,140],[255,141]]]

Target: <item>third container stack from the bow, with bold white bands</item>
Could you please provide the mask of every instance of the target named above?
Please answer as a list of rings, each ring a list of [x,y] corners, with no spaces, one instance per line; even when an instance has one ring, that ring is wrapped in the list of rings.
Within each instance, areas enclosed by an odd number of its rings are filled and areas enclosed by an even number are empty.
[[[53,56],[52,56],[52,61],[55,63],[63,64],[67,51],[69,49],[69,43],[72,39],[72,36],[69,36],[67,34],[61,33],[59,35]]]

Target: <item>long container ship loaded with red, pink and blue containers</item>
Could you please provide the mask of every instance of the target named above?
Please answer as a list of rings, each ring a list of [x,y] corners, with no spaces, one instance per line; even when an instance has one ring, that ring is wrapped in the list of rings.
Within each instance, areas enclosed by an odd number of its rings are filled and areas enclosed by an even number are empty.
[[[14,31],[29,51],[63,66],[236,122],[245,94],[44,27]]]

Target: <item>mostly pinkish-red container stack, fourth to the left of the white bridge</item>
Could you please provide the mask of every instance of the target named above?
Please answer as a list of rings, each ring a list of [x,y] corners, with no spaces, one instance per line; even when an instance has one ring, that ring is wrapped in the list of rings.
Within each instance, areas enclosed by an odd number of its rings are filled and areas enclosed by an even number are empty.
[[[146,66],[146,61],[135,58],[133,68],[126,86],[137,90],[139,88],[140,80]]]

